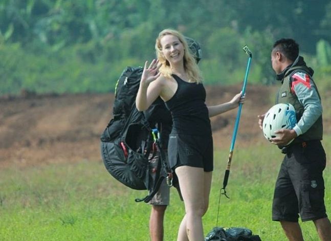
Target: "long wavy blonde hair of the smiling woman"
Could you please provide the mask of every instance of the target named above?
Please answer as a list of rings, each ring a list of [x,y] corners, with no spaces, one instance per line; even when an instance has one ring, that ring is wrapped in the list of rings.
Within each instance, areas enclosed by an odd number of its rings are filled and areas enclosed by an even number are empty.
[[[159,36],[156,39],[155,49],[157,57],[162,63],[162,67],[160,68],[160,72],[165,76],[170,78],[172,74],[172,70],[170,68],[169,61],[164,57],[162,53],[162,45],[161,45],[161,38],[165,35],[173,35],[178,37],[178,39],[182,42],[184,46],[184,70],[188,75],[188,78],[191,82],[201,83],[203,81],[201,71],[197,66],[196,60],[194,56],[189,51],[189,47],[187,41],[183,34],[180,32],[173,30],[173,29],[165,29],[159,33]]]

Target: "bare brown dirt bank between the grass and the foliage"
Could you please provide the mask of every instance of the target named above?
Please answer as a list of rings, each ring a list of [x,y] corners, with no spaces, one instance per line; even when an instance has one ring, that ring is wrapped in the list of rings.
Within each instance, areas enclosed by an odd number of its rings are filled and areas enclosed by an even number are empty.
[[[241,86],[207,87],[208,105],[223,103]],[[257,115],[271,106],[275,90],[247,86],[242,108],[238,145],[264,141]],[[21,95],[0,99],[0,167],[10,163],[101,160],[99,137],[112,118],[113,94]],[[215,148],[229,148],[237,111],[211,119]],[[237,145],[236,144],[236,145]]]

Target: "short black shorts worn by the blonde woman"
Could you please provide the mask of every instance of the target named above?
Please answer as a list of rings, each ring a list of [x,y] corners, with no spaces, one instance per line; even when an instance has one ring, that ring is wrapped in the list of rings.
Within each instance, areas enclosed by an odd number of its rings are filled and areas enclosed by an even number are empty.
[[[170,167],[179,166],[204,168],[213,170],[213,138],[211,135],[170,134],[168,144]]]

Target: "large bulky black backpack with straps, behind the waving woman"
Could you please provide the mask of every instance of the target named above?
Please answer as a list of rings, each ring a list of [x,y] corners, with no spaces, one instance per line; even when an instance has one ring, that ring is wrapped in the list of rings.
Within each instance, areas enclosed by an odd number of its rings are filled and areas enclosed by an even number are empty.
[[[127,187],[148,190],[148,195],[136,202],[149,202],[161,182],[171,177],[165,152],[159,138],[154,140],[152,128],[158,117],[171,118],[163,101],[157,100],[146,112],[136,108],[135,100],[143,68],[127,67],[117,81],[113,106],[113,119],[101,135],[101,156],[108,172]],[[152,120],[153,118],[154,120]],[[159,121],[163,121],[159,118]],[[159,158],[156,172],[149,173],[150,157]]]

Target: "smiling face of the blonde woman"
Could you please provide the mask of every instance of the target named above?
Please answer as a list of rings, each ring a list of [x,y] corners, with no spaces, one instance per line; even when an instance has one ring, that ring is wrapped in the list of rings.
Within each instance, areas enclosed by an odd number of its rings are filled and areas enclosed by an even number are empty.
[[[167,34],[160,39],[162,53],[170,64],[183,61],[184,46],[178,37]]]

